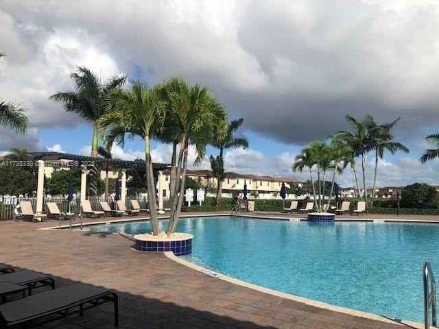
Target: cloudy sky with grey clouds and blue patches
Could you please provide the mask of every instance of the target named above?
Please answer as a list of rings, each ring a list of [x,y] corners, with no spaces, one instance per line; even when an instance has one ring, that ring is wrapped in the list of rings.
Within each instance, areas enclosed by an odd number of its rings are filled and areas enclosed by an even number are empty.
[[[2,153],[89,153],[90,125],[48,100],[72,88],[81,65],[102,80],[182,76],[212,88],[250,141],[226,152],[230,171],[293,175],[300,147],[347,129],[346,114],[370,113],[401,117],[394,134],[411,149],[380,162],[379,186],[439,184],[439,163],[417,160],[425,134],[439,131],[435,0],[0,0],[0,26],[0,98],[29,117],[25,136],[0,127]],[[153,146],[154,160],[169,162],[169,146]],[[132,159],[142,149],[132,141],[112,153]],[[346,170],[340,183],[352,178]]]

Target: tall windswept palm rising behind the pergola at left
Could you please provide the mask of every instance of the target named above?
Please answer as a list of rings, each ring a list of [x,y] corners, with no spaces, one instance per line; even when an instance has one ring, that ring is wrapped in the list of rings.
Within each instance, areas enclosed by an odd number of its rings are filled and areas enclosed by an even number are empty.
[[[98,155],[98,126],[97,121],[106,112],[104,98],[114,88],[120,88],[126,82],[126,75],[115,76],[102,84],[100,79],[90,69],[78,66],[78,71],[71,73],[75,91],[58,92],[49,99],[64,104],[67,112],[79,114],[86,121],[93,123],[93,138],[91,141],[91,156]]]

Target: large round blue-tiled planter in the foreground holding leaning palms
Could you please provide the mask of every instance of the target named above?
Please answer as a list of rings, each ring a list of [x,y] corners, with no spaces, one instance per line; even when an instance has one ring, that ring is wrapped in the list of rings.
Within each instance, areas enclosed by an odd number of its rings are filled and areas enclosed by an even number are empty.
[[[153,236],[152,234],[136,234],[135,248],[140,252],[174,252],[176,256],[191,254],[193,235],[176,233],[171,238]]]

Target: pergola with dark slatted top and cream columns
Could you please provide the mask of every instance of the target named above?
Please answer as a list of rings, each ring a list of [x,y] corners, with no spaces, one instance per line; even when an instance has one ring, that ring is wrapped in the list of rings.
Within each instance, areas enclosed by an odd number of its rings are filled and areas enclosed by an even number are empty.
[[[43,212],[43,197],[44,197],[44,169],[45,162],[64,160],[66,162],[73,162],[74,165],[82,167],[81,173],[81,190],[80,200],[83,202],[86,199],[86,184],[87,184],[87,172],[89,167],[94,165],[108,165],[111,169],[121,170],[121,201],[125,203],[126,200],[126,169],[139,166],[139,162],[130,160],[118,160],[118,159],[106,159],[101,157],[80,156],[78,154],[67,154],[61,152],[27,152],[21,155],[21,160],[34,162],[38,165],[38,184],[36,188],[36,213]],[[144,162],[143,162],[144,163]],[[170,164],[165,163],[153,163],[153,169],[159,172],[170,167]],[[161,184],[161,179],[158,179],[158,184]],[[67,184],[67,182],[66,182]],[[162,190],[162,186],[158,186],[158,191]],[[158,209],[163,210],[163,193],[158,193]]]

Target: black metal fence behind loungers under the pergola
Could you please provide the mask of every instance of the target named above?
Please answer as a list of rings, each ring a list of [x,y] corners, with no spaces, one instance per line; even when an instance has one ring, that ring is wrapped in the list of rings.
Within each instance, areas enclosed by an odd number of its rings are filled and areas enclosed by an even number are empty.
[[[126,208],[132,209],[131,200],[137,199],[139,202],[139,206],[143,208],[149,208],[148,206],[148,199],[147,197],[126,197]],[[110,199],[106,200],[105,197],[88,197],[88,200],[90,201],[91,208],[93,210],[102,210],[101,205],[99,202],[101,201],[107,201],[108,204],[112,209],[115,209],[115,199],[110,197]],[[14,219],[14,207],[16,204],[18,204],[20,201],[30,201],[32,204],[32,209],[34,212],[36,211],[36,197],[23,197],[23,198],[17,198],[14,199],[13,202],[9,202],[8,204],[5,204],[4,202],[0,202],[0,221],[5,221],[8,219]],[[47,213],[47,202],[55,202],[58,205],[58,208],[61,212],[74,212],[76,214],[80,213],[81,210],[81,200],[80,198],[73,199],[72,202],[69,202],[67,200],[67,197],[45,197],[43,199],[43,212]],[[70,208],[69,208],[70,207]],[[163,208],[167,209],[170,208],[170,202],[169,199],[163,200]]]

